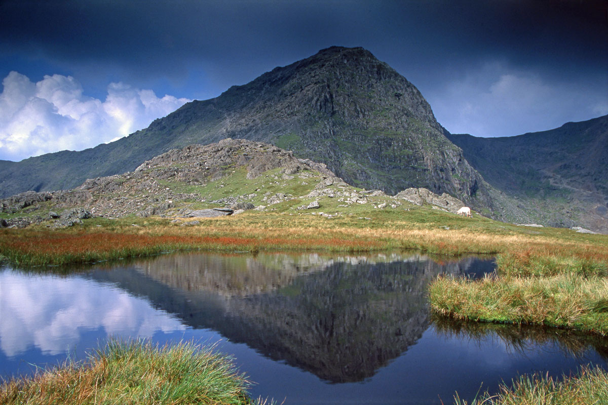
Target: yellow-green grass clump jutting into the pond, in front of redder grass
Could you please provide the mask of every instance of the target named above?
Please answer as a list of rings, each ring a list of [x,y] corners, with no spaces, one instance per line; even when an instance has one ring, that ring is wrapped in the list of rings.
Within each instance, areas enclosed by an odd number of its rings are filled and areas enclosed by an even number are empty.
[[[576,328],[608,334],[608,279],[485,277],[478,281],[438,277],[429,286],[431,308],[456,319]]]

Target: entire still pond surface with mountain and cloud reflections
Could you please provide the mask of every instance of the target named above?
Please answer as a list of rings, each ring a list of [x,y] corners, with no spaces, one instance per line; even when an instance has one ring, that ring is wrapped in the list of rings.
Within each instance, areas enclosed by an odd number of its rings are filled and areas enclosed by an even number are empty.
[[[286,404],[440,404],[520,373],[608,369],[608,340],[429,317],[437,274],[491,259],[182,253],[66,274],[0,269],[0,376],[80,359],[109,336],[194,339]]]

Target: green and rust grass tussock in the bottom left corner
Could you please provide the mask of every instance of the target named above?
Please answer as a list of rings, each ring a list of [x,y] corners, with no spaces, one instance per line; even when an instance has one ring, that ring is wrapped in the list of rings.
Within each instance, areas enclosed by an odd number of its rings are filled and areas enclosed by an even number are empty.
[[[109,342],[86,364],[68,362],[0,386],[2,404],[251,404],[249,382],[213,347]]]

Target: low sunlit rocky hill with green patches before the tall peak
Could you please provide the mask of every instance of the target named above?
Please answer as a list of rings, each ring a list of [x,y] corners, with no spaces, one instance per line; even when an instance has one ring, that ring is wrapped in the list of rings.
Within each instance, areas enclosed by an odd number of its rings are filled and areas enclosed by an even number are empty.
[[[133,172],[88,179],[64,191],[26,191],[0,199],[0,226],[63,227],[91,216],[213,217],[258,211],[342,216],[369,209],[432,205],[455,213],[449,194],[409,188],[395,196],[354,188],[323,163],[268,143],[233,140],[173,149]],[[353,208],[361,207],[361,208]],[[328,213],[331,210],[331,213]],[[196,224],[196,220],[182,225]]]

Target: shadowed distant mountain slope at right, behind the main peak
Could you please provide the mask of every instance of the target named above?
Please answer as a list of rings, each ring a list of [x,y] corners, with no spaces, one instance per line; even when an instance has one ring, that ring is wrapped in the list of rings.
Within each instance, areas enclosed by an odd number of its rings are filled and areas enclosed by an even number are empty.
[[[608,233],[608,115],[516,137],[446,137],[499,191],[503,219]]]

